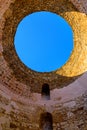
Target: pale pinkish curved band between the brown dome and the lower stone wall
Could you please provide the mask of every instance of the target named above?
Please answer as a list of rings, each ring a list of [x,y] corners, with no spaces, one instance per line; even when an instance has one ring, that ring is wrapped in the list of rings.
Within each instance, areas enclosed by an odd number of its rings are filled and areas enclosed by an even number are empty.
[[[75,106],[75,100],[76,98],[82,96],[87,91],[87,85],[86,85],[86,79],[87,79],[87,72],[83,74],[79,79],[77,79],[72,84],[61,88],[61,89],[54,89],[50,92],[50,100],[42,100],[41,94],[38,93],[32,93],[31,98],[24,98],[23,96],[18,96],[16,94],[10,93],[10,96],[8,96],[8,92],[6,87],[3,85],[0,85],[0,94],[2,94],[4,97],[11,99],[15,99],[14,101],[20,101],[24,104],[27,104],[28,106],[30,104],[38,105],[38,106],[44,106],[48,110],[52,111],[54,109],[53,107],[56,105],[65,105],[68,107]],[[3,90],[4,89],[4,90]],[[4,93],[5,92],[5,93]],[[17,99],[17,100],[16,100]],[[13,106],[14,103],[12,103]]]

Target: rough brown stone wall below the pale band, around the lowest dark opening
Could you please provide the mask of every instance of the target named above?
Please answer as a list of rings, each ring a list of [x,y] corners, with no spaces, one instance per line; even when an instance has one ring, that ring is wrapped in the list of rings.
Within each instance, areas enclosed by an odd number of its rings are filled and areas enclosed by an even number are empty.
[[[40,114],[47,111],[46,104],[24,104],[5,96],[0,94],[1,130],[39,130]],[[53,130],[87,130],[87,92],[77,99],[49,107]]]

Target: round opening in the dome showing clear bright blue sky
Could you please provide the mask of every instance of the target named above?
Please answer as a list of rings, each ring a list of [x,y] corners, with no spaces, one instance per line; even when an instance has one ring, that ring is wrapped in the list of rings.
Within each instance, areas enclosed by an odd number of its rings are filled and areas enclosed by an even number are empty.
[[[73,31],[59,15],[35,12],[19,23],[14,45],[18,57],[28,68],[51,72],[69,59],[73,50]]]

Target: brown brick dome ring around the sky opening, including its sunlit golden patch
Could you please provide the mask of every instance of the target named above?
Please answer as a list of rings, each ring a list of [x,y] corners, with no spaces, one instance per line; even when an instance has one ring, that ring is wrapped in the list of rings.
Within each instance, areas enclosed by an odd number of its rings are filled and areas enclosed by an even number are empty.
[[[68,62],[60,69],[50,73],[38,73],[28,69],[18,58],[14,49],[14,35],[19,22],[26,16],[36,11],[50,11],[62,16],[72,27],[74,32],[74,50]],[[1,78],[9,86],[19,86],[23,83],[33,92],[41,92],[44,83],[50,89],[61,88],[75,81],[87,70],[87,17],[79,12],[75,6],[66,0],[38,1],[15,0],[5,11],[2,21],[2,68]],[[3,66],[3,63],[5,64]],[[6,67],[5,67],[6,66]],[[14,87],[15,88],[15,87]],[[20,88],[19,88],[20,89]]]

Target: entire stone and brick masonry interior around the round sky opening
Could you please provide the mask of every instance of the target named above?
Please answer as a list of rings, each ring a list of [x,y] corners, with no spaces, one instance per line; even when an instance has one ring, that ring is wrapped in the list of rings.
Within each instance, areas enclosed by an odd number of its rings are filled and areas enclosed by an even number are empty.
[[[42,10],[65,18],[74,32],[70,59],[51,73],[28,69],[14,49],[19,22]],[[87,130],[87,87],[81,84],[87,77],[86,14],[86,0],[0,0],[0,130],[39,130],[46,111],[53,130]],[[49,101],[41,99],[44,83],[51,89]]]

